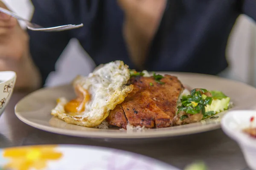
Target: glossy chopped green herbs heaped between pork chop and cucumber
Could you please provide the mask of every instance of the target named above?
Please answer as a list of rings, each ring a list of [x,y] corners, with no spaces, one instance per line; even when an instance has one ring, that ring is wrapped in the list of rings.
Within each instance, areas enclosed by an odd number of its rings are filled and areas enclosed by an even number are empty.
[[[212,97],[201,94],[201,92],[205,93],[208,91],[206,89],[201,89],[201,91],[193,89],[191,95],[182,96],[180,99],[181,105],[177,107],[177,113],[184,111],[188,114],[197,114],[201,111],[203,115],[206,115],[205,106],[212,104]],[[207,116],[209,115],[207,114]]]

